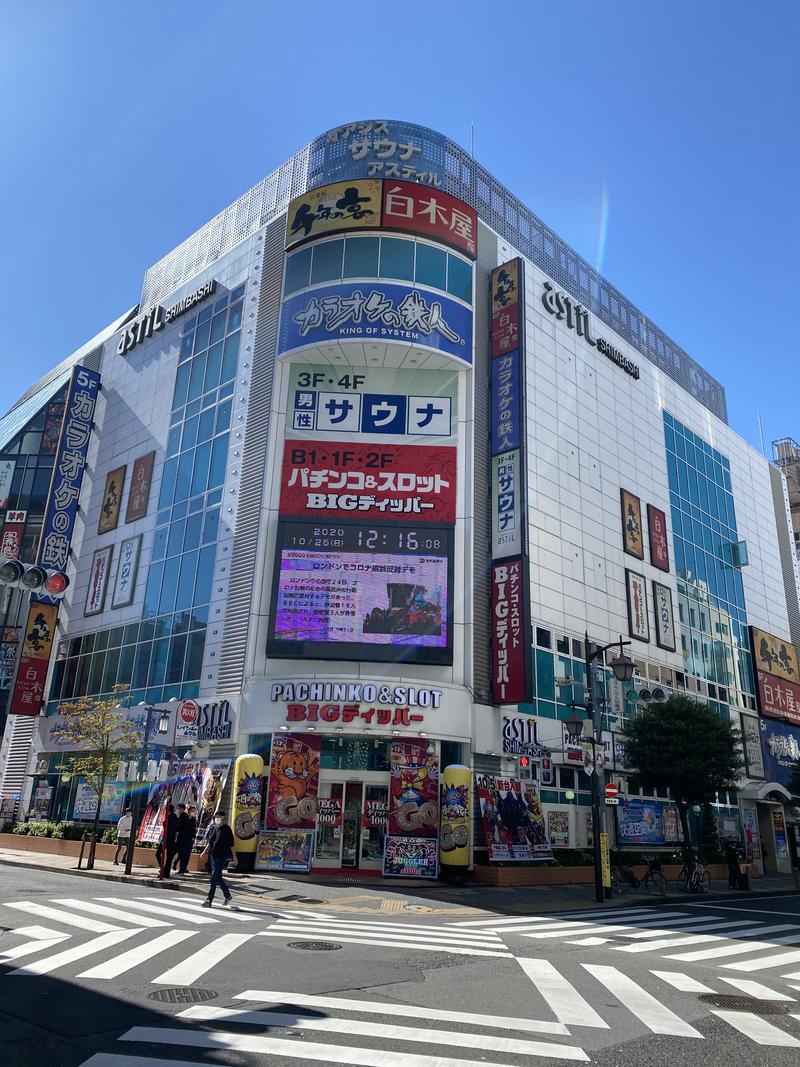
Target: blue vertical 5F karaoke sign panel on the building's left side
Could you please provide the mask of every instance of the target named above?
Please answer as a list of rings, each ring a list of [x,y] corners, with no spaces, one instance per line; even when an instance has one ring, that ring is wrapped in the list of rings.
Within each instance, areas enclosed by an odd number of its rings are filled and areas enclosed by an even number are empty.
[[[38,546],[38,562],[42,567],[51,567],[57,571],[63,571],[69,558],[69,544],[75,529],[78,497],[99,392],[100,376],[97,371],[75,367]]]

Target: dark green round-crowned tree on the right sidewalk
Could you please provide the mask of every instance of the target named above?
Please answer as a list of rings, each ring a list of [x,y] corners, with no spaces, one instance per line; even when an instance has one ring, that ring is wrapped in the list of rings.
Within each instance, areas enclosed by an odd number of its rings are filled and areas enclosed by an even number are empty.
[[[715,794],[736,785],[743,767],[738,734],[707,704],[671,697],[627,721],[624,743],[636,780],[661,796],[669,790],[688,857],[689,806],[710,803]]]

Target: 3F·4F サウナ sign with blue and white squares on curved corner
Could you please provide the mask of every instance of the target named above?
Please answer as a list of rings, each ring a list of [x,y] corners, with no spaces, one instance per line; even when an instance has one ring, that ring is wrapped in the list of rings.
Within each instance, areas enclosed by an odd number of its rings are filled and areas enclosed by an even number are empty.
[[[459,375],[394,367],[290,365],[287,425],[293,433],[347,432],[452,440],[458,428]]]

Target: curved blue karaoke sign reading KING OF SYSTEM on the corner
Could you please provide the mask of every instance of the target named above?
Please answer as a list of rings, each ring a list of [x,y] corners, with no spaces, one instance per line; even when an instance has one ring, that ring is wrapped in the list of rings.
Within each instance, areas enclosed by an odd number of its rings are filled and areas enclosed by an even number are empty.
[[[346,282],[283,302],[277,354],[333,340],[398,341],[473,362],[473,310],[422,286]]]

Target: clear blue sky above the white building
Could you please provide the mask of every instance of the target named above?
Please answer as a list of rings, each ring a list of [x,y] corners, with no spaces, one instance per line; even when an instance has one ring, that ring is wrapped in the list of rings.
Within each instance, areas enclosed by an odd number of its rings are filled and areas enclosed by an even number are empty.
[[[493,11],[495,14],[493,15]],[[800,4],[0,0],[0,409],[147,267],[356,118],[469,147],[727,389],[800,439]]]

